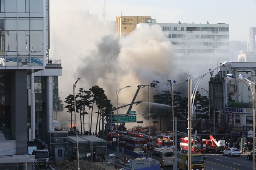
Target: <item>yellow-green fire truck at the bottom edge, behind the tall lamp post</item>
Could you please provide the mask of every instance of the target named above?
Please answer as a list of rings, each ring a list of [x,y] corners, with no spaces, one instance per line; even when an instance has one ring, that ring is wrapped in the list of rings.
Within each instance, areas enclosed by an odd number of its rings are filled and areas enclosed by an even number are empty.
[[[188,151],[180,150],[177,154],[177,167],[180,170],[187,170]],[[204,170],[204,160],[206,157],[201,152],[191,152],[191,170]]]

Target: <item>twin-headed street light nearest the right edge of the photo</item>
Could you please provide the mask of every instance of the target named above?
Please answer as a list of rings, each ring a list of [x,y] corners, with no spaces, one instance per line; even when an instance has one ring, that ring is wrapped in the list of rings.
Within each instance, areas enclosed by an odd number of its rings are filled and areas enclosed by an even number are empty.
[[[247,87],[250,89],[251,96],[253,98],[253,147],[252,147],[252,149],[253,149],[253,160],[255,160],[254,146],[255,146],[255,100],[256,100],[255,86],[256,86],[256,82],[255,82],[255,80],[253,80],[253,82],[248,80],[247,78],[244,77],[243,74],[240,74],[239,78],[236,78],[233,74],[227,74],[227,78],[229,78],[229,79],[232,79],[232,78],[238,79],[238,80],[244,82],[247,85]],[[254,170],[254,167],[255,167],[255,162],[253,161],[253,170]]]

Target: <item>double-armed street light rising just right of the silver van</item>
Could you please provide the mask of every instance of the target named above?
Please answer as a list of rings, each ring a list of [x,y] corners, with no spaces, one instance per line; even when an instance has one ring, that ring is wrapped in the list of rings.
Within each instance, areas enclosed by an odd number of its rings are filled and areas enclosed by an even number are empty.
[[[177,83],[177,84],[175,84],[176,83],[175,80],[172,82],[171,79],[168,79],[167,81],[170,83],[171,89],[168,86],[167,87],[170,90],[171,95],[172,95],[172,138],[173,138],[172,140],[173,140],[173,142],[175,141],[175,145],[174,146],[176,146],[175,148],[173,147],[175,149],[175,152],[174,152],[174,169],[176,169],[177,164],[175,163],[175,155],[177,155],[178,150],[177,150],[177,141],[175,140],[175,137],[174,137],[174,103],[173,103],[173,101],[174,101],[174,91],[175,91],[176,87],[178,87],[179,84],[188,81],[188,79],[185,80],[185,81],[182,81],[180,83]],[[153,80],[153,82],[160,83],[157,80]],[[161,83],[161,84],[167,85],[166,83]],[[177,85],[175,88],[173,88],[174,84]]]

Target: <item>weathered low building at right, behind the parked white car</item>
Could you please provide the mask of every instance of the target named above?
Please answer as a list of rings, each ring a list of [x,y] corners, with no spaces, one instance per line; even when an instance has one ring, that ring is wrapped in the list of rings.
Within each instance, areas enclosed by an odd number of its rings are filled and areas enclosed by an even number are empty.
[[[209,81],[210,108],[218,111],[216,127],[231,134],[247,133],[253,125],[250,89],[239,79],[227,78],[227,74],[233,74],[236,78],[243,74],[253,81],[256,78],[256,62],[232,62],[226,68],[220,68]]]

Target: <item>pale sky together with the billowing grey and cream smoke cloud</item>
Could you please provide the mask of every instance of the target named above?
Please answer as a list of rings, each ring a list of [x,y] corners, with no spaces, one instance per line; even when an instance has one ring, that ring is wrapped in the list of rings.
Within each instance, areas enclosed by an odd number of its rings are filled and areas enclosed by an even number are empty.
[[[114,106],[116,90],[130,85],[119,93],[120,106],[131,102],[138,85],[149,84],[155,79],[168,83],[168,78],[181,82],[191,73],[179,72],[172,65],[172,45],[159,26],[144,27],[142,31],[136,30],[125,38],[117,39],[114,31],[106,31],[102,23],[81,15],[81,11],[89,11],[90,14],[98,14],[98,21],[103,21],[104,2],[105,21],[115,21],[116,16],[122,13],[151,16],[158,23],[226,23],[229,24],[230,41],[249,42],[249,27],[256,26],[256,0],[51,0],[49,57],[62,63],[59,96],[63,102],[73,93],[73,83],[78,77],[81,80],[77,83],[76,92],[80,87],[88,90],[97,85],[105,90]],[[197,77],[200,72],[194,70],[192,75]],[[208,80],[200,86],[208,89]],[[179,88],[186,96],[187,86]],[[168,90],[168,87],[159,87],[158,90]],[[151,101],[155,93],[151,90]],[[148,102],[146,88],[140,90],[136,101],[140,100]],[[142,103],[134,106],[133,110],[143,113],[146,107],[147,104]],[[119,113],[126,110],[120,109]],[[69,119],[70,114],[66,110],[58,116],[62,123],[68,124]],[[137,115],[137,120],[143,120],[141,114]],[[95,125],[95,118],[93,122]],[[126,123],[128,128],[136,125]]]

